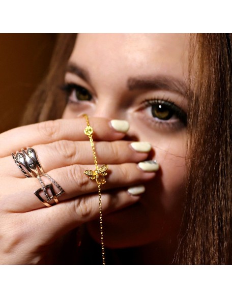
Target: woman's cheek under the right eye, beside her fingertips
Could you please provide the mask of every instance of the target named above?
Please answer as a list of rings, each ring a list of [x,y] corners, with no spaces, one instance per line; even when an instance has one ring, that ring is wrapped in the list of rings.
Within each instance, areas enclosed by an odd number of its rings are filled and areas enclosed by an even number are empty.
[[[186,129],[167,133],[134,123],[131,130],[136,139],[152,144],[153,152],[149,159],[156,159],[160,164],[160,170],[149,185],[148,194],[153,194],[150,203],[155,204],[152,202],[155,196],[161,213],[181,212],[186,177]]]

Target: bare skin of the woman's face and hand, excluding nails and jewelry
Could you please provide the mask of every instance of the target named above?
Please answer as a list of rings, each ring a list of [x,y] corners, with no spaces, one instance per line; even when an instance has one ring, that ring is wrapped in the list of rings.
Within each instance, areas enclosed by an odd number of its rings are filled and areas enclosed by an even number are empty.
[[[86,88],[93,100],[77,103],[72,91],[63,119],[0,135],[4,144],[0,152],[1,264],[43,264],[56,240],[83,223],[88,223],[91,235],[99,240],[96,183],[83,174],[94,168],[89,139],[83,133],[83,112],[89,114],[94,128],[98,163],[109,165],[102,187],[105,246],[139,246],[135,263],[170,262],[181,218],[186,128],[177,117],[154,121],[151,107],[142,103],[151,98],[169,99],[187,112],[185,96],[170,88],[171,81],[187,77],[186,49],[186,35],[78,36],[70,62],[88,71],[91,80],[70,71],[65,80]],[[161,75],[171,77],[169,87],[135,88],[134,84],[128,89],[131,77],[148,81]],[[128,133],[115,131],[112,119],[128,121]],[[136,152],[132,140],[149,141],[152,151]],[[25,178],[15,165],[11,153],[26,147],[35,149],[44,172],[65,190],[59,204],[45,207],[34,195],[40,188],[37,178]],[[138,167],[140,161],[154,158],[160,164],[157,173]],[[127,192],[140,184],[146,186],[143,195]],[[149,260],[144,257],[148,252]]]

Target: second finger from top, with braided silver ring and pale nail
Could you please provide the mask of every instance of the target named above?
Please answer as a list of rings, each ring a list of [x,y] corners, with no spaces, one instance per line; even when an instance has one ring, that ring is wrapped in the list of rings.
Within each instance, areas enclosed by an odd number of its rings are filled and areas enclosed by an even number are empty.
[[[33,148],[44,172],[74,164],[94,163],[89,141],[62,140],[36,145]],[[129,142],[125,140],[101,141],[95,142],[95,150],[99,164],[121,164],[146,159],[151,150],[151,145],[147,142]],[[11,156],[1,159],[1,168],[4,169],[2,171],[4,176],[24,177]]]

